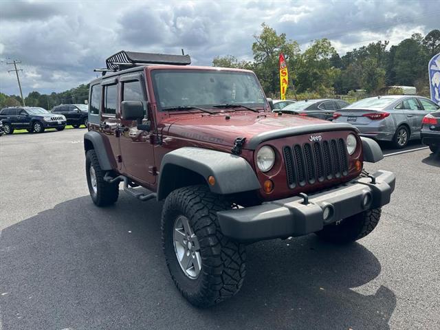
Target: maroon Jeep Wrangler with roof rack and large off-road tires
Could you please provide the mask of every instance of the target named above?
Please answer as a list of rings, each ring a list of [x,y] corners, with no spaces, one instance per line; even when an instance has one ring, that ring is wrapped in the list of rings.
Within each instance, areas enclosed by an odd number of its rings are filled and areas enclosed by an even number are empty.
[[[248,70],[188,66],[188,55],[119,52],[90,84],[86,175],[97,206],[164,200],[166,264],[208,307],[236,294],[245,245],[317,234],[349,243],[377,225],[395,175],[350,124],[272,112]]]

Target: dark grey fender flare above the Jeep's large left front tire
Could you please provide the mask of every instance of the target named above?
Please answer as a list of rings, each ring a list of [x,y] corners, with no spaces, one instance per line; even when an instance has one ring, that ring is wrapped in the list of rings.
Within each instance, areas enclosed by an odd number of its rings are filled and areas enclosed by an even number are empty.
[[[157,184],[158,200],[166,198],[171,191],[179,188],[175,186],[175,178],[179,175],[174,173],[179,168],[203,177],[211,192],[219,195],[261,188],[252,166],[243,157],[222,151],[183,147],[166,153],[162,158]],[[210,175],[215,179],[213,186],[208,184]]]

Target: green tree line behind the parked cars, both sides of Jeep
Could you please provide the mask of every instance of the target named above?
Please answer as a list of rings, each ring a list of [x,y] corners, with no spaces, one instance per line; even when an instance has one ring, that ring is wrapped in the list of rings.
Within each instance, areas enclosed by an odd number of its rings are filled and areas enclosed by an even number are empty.
[[[415,86],[417,94],[429,95],[428,61],[440,52],[440,30],[426,36],[412,34],[398,45],[377,41],[355,48],[340,56],[328,39],[316,39],[307,49],[287,39],[285,33],[263,23],[261,33],[254,35],[253,61],[243,61],[234,55],[217,56],[212,65],[250,69],[256,73],[268,97],[279,97],[278,56],[285,55],[289,69],[287,98],[318,98],[353,94],[383,94],[387,86]],[[40,94],[32,91],[25,98],[31,107],[52,109],[58,104],[84,103],[89,85],[61,93]],[[19,96],[0,93],[0,107],[21,104]]]

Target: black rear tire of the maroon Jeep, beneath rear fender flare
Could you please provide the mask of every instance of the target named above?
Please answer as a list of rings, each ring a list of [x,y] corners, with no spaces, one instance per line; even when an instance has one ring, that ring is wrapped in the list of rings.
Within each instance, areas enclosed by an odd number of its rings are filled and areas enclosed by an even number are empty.
[[[91,186],[90,166],[94,167],[96,174],[96,192],[94,192],[94,189]],[[119,183],[109,184],[108,182],[104,181],[105,172],[101,169],[98,156],[96,155],[94,149],[87,151],[85,155],[85,170],[90,197],[96,206],[109,206],[118,201]]]

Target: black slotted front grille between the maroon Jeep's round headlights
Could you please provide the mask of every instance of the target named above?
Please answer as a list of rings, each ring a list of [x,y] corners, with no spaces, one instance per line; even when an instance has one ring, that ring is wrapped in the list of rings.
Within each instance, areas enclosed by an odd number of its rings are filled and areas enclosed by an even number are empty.
[[[349,174],[343,139],[284,146],[283,155],[287,184],[292,189]]]

